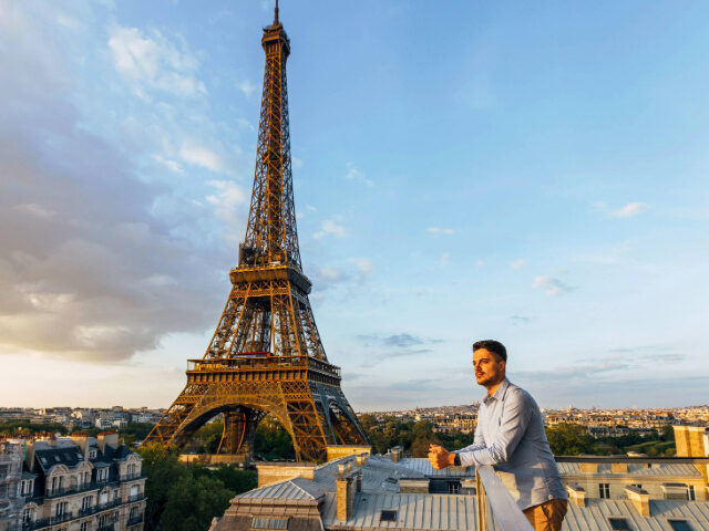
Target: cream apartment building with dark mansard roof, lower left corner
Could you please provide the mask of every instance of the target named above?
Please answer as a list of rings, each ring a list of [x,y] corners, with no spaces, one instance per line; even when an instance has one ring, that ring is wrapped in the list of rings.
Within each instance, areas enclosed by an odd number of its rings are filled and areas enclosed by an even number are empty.
[[[116,433],[16,439],[24,459],[14,521],[0,531],[141,531],[142,458]]]

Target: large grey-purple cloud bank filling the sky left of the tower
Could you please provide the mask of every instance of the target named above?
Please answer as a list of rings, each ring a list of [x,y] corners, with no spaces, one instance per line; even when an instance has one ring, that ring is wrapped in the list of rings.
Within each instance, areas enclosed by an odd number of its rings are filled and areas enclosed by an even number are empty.
[[[0,27],[0,48],[12,50],[0,56],[2,350],[116,361],[216,324],[226,253],[153,214],[169,190],[138,177],[140,153],[82,127],[60,59],[71,50],[10,15],[14,25]],[[183,207],[198,225],[204,212]]]

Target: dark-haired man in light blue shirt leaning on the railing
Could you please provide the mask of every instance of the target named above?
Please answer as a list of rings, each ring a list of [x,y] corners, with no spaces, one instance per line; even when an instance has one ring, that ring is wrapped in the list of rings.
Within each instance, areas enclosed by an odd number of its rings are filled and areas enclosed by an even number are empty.
[[[454,452],[431,445],[433,468],[492,465],[536,531],[558,531],[566,489],[534,398],[505,377],[507,351],[497,341],[473,344],[473,367],[487,395],[477,412],[474,442]],[[506,472],[506,473],[505,473]]]

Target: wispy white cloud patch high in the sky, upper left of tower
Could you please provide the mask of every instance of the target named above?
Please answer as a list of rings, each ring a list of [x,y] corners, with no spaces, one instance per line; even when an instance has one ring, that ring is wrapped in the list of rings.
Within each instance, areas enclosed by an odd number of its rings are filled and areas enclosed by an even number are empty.
[[[116,71],[142,96],[146,90],[178,96],[207,92],[197,77],[199,62],[179,35],[171,40],[157,30],[145,35],[137,28],[115,27],[110,32],[109,49]]]

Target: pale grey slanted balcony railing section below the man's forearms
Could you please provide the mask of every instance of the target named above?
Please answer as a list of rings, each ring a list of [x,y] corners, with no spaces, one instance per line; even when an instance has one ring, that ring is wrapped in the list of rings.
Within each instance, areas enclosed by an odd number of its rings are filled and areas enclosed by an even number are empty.
[[[487,531],[489,517],[494,514],[501,531],[534,531],[491,466],[475,469],[477,496],[477,529]]]

